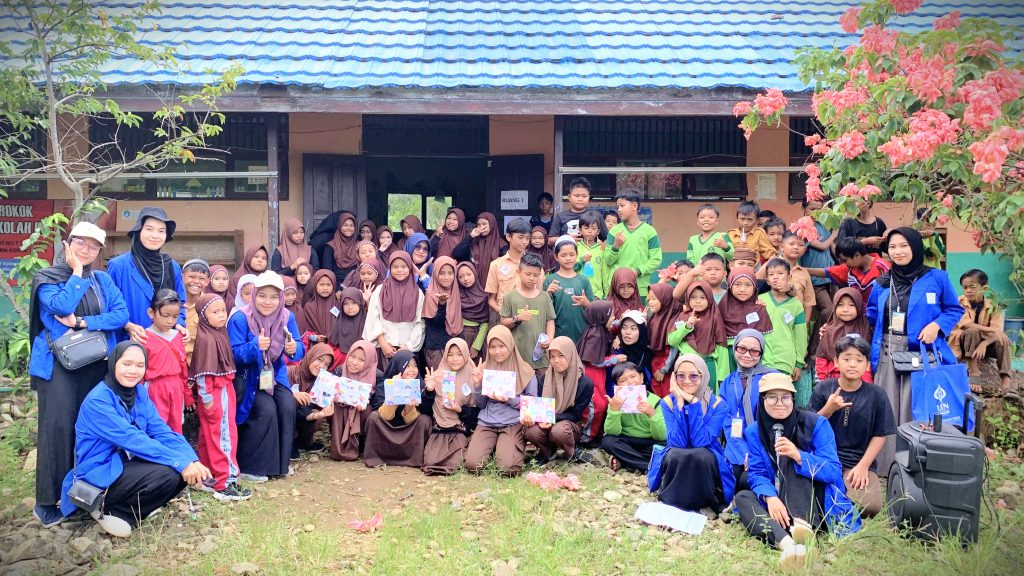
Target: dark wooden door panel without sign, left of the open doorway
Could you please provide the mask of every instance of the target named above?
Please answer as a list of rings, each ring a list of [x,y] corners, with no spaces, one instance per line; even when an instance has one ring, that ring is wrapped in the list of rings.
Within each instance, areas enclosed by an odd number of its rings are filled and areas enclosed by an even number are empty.
[[[338,210],[367,217],[367,169],[361,156],[302,156],[302,222],[307,231]]]

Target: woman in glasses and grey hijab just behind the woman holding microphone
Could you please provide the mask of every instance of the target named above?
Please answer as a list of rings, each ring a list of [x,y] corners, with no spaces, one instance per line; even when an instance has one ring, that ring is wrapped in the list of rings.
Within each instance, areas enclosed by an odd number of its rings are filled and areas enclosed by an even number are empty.
[[[725,436],[725,459],[732,466],[736,490],[746,488],[746,441],[743,428],[754,423],[758,413],[758,390],[761,378],[776,370],[766,366],[764,360],[765,337],[746,328],[736,334],[732,342],[732,355],[736,361],[736,371],[725,377],[718,393],[725,403],[725,421],[722,433]]]

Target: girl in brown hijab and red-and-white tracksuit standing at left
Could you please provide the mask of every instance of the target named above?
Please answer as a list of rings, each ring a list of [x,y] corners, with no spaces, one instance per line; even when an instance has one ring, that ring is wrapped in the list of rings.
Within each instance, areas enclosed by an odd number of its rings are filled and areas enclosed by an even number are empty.
[[[218,500],[246,500],[252,493],[239,486],[239,431],[234,423],[234,355],[227,337],[227,305],[217,294],[196,302],[199,330],[188,380],[199,392],[199,459],[213,474],[203,489]]]

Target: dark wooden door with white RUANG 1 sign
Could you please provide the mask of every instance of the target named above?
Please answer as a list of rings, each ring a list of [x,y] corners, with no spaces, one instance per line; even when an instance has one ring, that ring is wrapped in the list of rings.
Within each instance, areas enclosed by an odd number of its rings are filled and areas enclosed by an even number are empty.
[[[544,155],[492,156],[487,160],[487,210],[505,232],[508,217],[526,219],[537,213],[537,195],[544,192]]]

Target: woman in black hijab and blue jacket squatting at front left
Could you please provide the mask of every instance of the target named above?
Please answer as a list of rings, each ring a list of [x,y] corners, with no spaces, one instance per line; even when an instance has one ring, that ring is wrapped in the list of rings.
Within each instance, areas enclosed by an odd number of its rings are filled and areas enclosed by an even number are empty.
[[[75,503],[67,496],[76,479],[105,489],[92,511],[99,527],[127,538],[153,510],[184,488],[199,486],[210,470],[199,461],[184,437],[171,430],[139,382],[145,376],[145,349],[119,343],[108,361],[109,372],[82,403],[75,424],[77,464],[63,479],[60,511]]]

